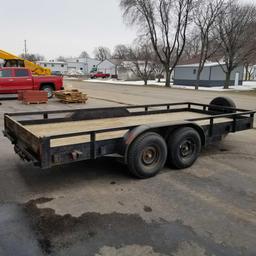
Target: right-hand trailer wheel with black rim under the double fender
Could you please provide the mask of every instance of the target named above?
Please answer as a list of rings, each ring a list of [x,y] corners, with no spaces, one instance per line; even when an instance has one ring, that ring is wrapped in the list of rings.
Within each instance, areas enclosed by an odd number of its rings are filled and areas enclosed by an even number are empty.
[[[177,169],[190,167],[201,152],[201,138],[190,127],[174,131],[168,139],[168,164]]]

